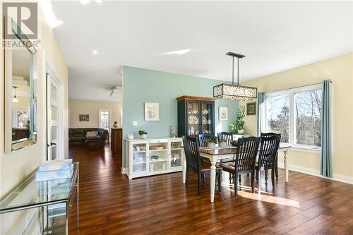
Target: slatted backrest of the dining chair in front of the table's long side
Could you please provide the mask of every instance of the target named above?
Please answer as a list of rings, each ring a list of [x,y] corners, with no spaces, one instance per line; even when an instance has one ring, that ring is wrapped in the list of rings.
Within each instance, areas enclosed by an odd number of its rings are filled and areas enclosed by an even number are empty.
[[[255,169],[256,155],[260,138],[239,138],[237,145],[236,169],[237,171],[251,171]]]

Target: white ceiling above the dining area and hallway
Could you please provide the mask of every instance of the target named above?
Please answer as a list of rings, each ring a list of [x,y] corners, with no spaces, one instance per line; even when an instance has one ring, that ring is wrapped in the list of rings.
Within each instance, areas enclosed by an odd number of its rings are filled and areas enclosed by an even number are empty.
[[[54,1],[71,99],[107,100],[122,65],[241,81],[353,51],[352,1]],[[191,49],[190,52],[165,54]],[[92,54],[97,50],[99,54]]]

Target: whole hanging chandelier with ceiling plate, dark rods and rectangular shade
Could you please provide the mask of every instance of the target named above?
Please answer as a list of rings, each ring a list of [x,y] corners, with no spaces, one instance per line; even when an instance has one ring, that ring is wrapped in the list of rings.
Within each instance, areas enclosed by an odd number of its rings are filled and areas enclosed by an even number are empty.
[[[258,88],[239,85],[239,59],[244,58],[242,54],[228,52],[227,56],[232,56],[232,85],[222,83],[213,87],[213,97],[221,100],[252,100],[258,97]],[[237,57],[237,85],[234,85],[234,57]]]

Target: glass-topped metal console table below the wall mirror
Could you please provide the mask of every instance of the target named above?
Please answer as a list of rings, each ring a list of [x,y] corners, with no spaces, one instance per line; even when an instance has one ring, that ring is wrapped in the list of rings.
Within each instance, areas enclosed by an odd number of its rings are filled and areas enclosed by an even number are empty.
[[[73,162],[71,179],[36,181],[36,173],[37,171],[0,201],[0,214],[35,208],[34,215],[23,234],[31,234],[30,227],[39,227],[41,234],[68,234],[70,207],[73,205],[75,195],[77,227],[79,225],[78,162]],[[63,227],[63,224],[65,229],[56,228]]]

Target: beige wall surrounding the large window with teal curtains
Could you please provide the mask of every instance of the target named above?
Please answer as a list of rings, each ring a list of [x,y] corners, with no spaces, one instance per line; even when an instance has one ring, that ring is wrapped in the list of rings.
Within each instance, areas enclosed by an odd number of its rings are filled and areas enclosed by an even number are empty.
[[[249,80],[242,85],[258,88],[258,92],[273,92],[301,85],[333,80],[333,173],[336,179],[353,183],[353,53],[318,61],[270,76]],[[242,102],[242,105],[245,103]],[[246,116],[246,133],[256,135],[256,116]],[[319,152],[293,151],[289,154],[292,167],[320,169]],[[280,159],[282,162],[282,159]],[[347,176],[347,177],[346,177]]]

